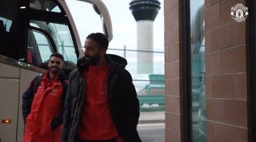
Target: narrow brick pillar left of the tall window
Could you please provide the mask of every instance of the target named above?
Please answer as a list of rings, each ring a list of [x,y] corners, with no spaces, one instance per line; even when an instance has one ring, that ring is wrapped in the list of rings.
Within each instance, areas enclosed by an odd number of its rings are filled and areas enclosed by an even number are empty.
[[[166,79],[166,141],[181,138],[181,1],[164,0],[164,51]]]

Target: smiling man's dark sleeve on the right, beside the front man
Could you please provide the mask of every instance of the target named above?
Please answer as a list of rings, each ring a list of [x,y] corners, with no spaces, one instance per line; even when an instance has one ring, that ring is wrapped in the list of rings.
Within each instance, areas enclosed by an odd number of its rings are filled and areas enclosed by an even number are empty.
[[[65,81],[61,81],[61,85],[63,87],[63,93],[61,94],[61,103],[64,108],[65,97],[68,90],[68,83],[66,83]],[[60,111],[60,114],[56,118],[52,119],[52,122],[51,122],[52,130],[55,130],[57,127],[59,127],[63,123],[63,114],[64,114],[64,110]]]

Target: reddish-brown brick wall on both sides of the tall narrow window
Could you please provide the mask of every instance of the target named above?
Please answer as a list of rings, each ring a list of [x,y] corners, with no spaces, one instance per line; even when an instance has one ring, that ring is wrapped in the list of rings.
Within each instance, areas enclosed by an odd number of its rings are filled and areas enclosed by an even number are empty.
[[[248,141],[246,22],[230,8],[246,0],[205,0],[207,141]],[[181,1],[164,0],[166,141],[182,138]]]

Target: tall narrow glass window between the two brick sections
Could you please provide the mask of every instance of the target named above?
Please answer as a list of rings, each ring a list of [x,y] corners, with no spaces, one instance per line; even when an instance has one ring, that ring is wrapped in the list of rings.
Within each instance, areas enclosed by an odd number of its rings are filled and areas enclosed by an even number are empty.
[[[205,110],[204,0],[191,3],[192,141],[207,141]]]

